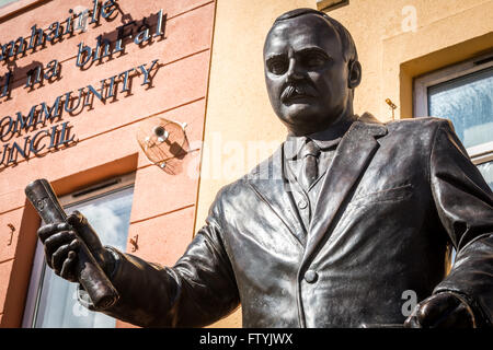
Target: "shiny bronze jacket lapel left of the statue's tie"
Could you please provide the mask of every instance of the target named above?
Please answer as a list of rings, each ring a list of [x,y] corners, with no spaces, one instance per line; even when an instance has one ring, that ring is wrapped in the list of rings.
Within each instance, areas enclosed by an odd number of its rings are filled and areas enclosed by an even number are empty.
[[[249,174],[249,184],[255,194],[283,221],[286,229],[305,247],[305,228],[289,194],[289,183],[284,174],[283,145]]]

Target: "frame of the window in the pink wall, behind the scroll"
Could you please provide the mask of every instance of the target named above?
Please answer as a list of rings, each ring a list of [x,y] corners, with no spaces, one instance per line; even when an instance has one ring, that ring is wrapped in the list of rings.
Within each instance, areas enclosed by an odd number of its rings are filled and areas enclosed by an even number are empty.
[[[80,205],[88,200],[104,197],[115,191],[130,188],[135,185],[135,173],[114,177],[102,183],[84,187],[70,195],[59,197],[62,207]],[[30,287],[22,319],[23,328],[33,328],[36,320],[37,304],[39,302],[41,292],[43,290],[43,278],[45,271],[45,255],[43,245],[37,240],[36,250],[33,259],[33,268],[31,271]]]

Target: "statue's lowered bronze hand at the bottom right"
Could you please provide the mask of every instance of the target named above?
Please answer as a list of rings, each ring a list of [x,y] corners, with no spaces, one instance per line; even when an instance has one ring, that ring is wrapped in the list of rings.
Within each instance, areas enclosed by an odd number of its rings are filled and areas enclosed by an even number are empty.
[[[473,328],[474,314],[460,295],[442,292],[416,305],[404,323],[406,328]]]

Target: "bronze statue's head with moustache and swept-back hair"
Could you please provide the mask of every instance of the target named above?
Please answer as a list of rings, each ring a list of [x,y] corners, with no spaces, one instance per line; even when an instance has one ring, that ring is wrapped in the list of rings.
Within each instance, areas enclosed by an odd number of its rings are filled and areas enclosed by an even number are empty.
[[[280,15],[265,39],[264,67],[271,104],[290,133],[323,130],[353,115],[362,66],[349,32],[325,13]]]

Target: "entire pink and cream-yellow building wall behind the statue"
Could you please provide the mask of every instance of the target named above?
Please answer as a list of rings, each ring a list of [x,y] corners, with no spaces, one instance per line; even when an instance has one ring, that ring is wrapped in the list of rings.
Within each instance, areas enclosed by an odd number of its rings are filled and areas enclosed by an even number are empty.
[[[159,59],[160,66],[152,88],[141,86],[142,77],[136,77],[130,94],[119,93],[106,103],[94,101],[91,108],[62,116],[58,122],[70,122],[77,144],[16,166],[0,166],[2,327],[20,326],[31,273],[38,221],[25,201],[27,183],[45,177],[57,194],[65,195],[135,171],[128,234],[138,235],[135,254],[173,265],[204,224],[219,188],[267,158],[286,137],[265,91],[262,48],[277,15],[295,8],[317,8],[317,0],[117,2],[122,11],[113,21],[90,25],[83,34],[48,44],[9,65],[14,83],[11,97],[0,98],[0,118],[19,110],[26,114],[35,104],[53,103],[60,94],[87,84],[96,86],[102,79],[153,59]],[[323,3],[329,2],[336,1]],[[78,4],[91,8],[91,3],[22,0],[12,4],[13,13],[9,7],[2,8],[0,43],[27,36],[34,24],[46,28],[65,19],[68,9]],[[114,32],[129,16],[139,20],[160,9],[167,14],[164,39],[142,48],[129,44],[127,55],[83,71],[76,67],[79,43],[93,46],[98,35]],[[388,120],[391,110],[385,101],[390,98],[398,106],[397,118],[411,117],[413,79],[491,49],[492,13],[491,0],[351,0],[348,5],[329,11],[353,34],[363,65],[355,112],[368,110]],[[22,77],[33,63],[47,65],[54,58],[61,62],[61,78],[32,91],[24,89]],[[0,77],[7,69],[0,62]],[[187,155],[177,175],[150,165],[135,140],[140,122],[152,116],[186,121],[192,148],[202,150]],[[213,326],[240,327],[241,310]]]

